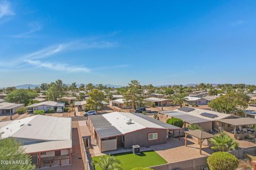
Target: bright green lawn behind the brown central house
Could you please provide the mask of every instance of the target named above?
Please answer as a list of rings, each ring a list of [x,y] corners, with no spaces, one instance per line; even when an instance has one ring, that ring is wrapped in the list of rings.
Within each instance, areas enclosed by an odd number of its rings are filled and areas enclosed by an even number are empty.
[[[141,152],[140,155],[134,155],[132,152],[111,155],[119,159],[124,170],[130,170],[134,167],[149,167],[166,164],[166,160],[158,155],[155,151]],[[100,156],[92,157],[92,160],[99,160]],[[95,170],[101,170],[96,168]]]

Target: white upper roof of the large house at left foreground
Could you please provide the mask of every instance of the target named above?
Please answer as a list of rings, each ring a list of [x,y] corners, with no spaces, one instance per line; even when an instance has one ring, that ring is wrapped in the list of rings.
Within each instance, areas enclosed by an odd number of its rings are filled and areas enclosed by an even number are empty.
[[[2,126],[2,138],[26,138],[38,140],[70,140],[71,118],[35,115]],[[2,122],[0,122],[1,127]]]

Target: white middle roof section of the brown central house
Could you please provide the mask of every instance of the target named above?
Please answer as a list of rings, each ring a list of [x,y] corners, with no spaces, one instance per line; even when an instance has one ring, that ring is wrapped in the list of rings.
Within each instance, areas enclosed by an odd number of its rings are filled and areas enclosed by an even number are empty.
[[[102,116],[105,117],[109,123],[115,126],[115,128],[123,134],[145,128],[164,129],[162,126],[149,122],[144,118],[131,113],[113,112],[109,114],[103,114]],[[127,124],[129,120],[132,121],[132,124]]]

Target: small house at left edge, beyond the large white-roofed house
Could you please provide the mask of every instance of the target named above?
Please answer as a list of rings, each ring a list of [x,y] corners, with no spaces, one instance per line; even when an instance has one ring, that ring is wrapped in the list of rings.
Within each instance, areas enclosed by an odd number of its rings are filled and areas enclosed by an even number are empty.
[[[2,102],[0,103],[0,115],[2,114],[15,114],[17,113],[19,108],[24,109],[24,104],[15,104],[15,103],[8,103],[8,102]]]

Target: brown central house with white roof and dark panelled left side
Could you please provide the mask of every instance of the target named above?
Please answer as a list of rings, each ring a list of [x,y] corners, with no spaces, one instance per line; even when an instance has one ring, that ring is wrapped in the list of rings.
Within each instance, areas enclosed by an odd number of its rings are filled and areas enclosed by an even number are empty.
[[[140,113],[124,112],[89,116],[88,126],[101,152],[166,143],[169,133],[179,134],[181,129]]]

